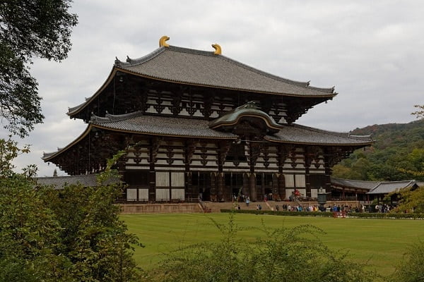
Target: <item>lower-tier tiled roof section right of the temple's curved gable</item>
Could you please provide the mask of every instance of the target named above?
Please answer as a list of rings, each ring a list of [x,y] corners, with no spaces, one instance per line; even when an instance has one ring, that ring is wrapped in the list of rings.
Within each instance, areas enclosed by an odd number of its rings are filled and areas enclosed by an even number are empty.
[[[310,128],[304,125],[285,125],[274,135],[267,135],[266,140],[285,143],[310,145],[370,145],[370,136],[349,135],[332,131]]]

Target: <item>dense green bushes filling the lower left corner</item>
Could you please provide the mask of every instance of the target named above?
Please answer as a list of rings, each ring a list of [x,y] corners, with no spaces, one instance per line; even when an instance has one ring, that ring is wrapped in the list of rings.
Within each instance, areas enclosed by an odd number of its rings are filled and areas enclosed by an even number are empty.
[[[98,187],[53,189],[29,177],[32,167],[13,172],[23,149],[0,141],[0,282],[139,281],[132,258],[139,241],[114,204],[121,186],[107,185],[123,153],[108,161]]]

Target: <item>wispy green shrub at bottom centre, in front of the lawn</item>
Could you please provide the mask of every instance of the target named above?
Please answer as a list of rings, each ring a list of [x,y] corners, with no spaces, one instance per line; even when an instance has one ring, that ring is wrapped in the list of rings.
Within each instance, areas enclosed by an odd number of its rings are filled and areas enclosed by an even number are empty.
[[[346,254],[329,250],[314,226],[278,228],[262,226],[264,239],[247,242],[237,237],[240,228],[230,214],[227,224],[215,222],[222,234],[218,243],[188,245],[172,252],[153,270],[153,281],[379,281]]]

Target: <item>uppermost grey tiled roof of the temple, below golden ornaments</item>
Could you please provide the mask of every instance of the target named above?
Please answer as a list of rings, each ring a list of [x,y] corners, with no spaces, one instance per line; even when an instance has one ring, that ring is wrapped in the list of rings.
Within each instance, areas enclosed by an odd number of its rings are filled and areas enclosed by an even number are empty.
[[[213,51],[160,47],[139,59],[115,61],[115,67],[148,78],[230,90],[264,92],[298,97],[334,97],[334,87],[310,87],[309,82],[288,80],[259,71]]]

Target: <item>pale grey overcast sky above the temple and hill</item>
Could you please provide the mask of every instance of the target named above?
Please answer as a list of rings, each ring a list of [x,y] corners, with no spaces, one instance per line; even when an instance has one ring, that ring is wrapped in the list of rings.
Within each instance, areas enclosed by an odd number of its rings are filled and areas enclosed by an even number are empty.
[[[424,1],[109,1],[75,0],[78,25],[62,63],[34,61],[44,123],[20,145],[18,170],[37,164],[52,176],[43,152],[54,152],[86,128],[66,116],[105,82],[114,58],[139,58],[159,38],[179,47],[213,51],[261,71],[339,94],[296,123],[347,132],[366,125],[408,123],[424,104]],[[6,137],[0,129],[0,137]],[[66,173],[59,171],[59,175]]]

